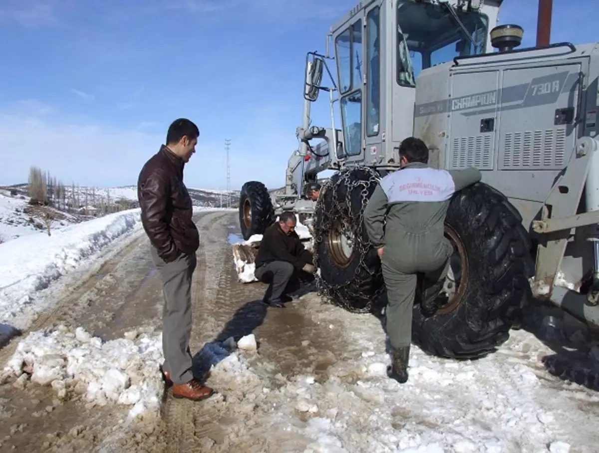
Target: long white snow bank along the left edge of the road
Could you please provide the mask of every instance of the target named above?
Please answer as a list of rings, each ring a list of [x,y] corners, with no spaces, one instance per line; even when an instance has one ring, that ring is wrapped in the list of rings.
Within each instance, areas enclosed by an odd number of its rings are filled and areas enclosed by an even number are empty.
[[[117,212],[0,244],[0,322],[15,325],[37,291],[97,258],[115,239],[141,229],[140,210]]]

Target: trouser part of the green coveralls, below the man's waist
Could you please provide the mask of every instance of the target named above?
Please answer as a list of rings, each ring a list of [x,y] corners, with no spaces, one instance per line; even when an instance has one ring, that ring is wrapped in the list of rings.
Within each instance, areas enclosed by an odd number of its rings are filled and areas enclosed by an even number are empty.
[[[446,238],[431,241],[429,232],[405,233],[401,244],[385,245],[381,266],[387,289],[385,311],[387,335],[394,348],[412,343],[412,309],[416,296],[417,272],[430,282],[442,281],[449,270],[453,247]]]

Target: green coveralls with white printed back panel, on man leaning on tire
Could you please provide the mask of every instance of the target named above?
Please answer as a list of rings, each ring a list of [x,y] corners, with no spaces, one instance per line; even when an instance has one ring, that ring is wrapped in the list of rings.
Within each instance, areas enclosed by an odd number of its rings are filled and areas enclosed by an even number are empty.
[[[409,163],[383,178],[368,201],[365,229],[375,247],[385,247],[387,333],[394,348],[412,343],[416,272],[437,282],[447,275],[453,247],[443,223],[452,195],[480,178],[476,168],[446,171]]]

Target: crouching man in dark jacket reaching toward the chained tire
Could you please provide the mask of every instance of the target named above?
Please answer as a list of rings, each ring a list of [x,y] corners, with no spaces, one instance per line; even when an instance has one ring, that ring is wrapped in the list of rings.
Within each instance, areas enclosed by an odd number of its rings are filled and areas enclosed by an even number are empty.
[[[258,249],[254,275],[262,282],[270,280],[264,303],[272,307],[283,307],[284,302],[291,300],[285,290],[299,271],[316,271],[312,254],[305,250],[295,232],[296,223],[293,212],[283,212],[279,221],[265,230]]]

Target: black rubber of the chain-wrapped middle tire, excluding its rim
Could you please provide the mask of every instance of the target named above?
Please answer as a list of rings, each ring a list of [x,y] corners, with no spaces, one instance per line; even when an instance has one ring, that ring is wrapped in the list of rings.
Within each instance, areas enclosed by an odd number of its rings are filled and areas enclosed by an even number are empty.
[[[347,184],[340,181],[340,175],[349,177],[350,181],[364,181],[365,186],[355,187],[347,191]],[[328,181],[316,205],[314,236],[317,238],[316,264],[320,269],[317,281],[320,293],[333,305],[341,306],[355,313],[371,312],[380,296],[384,293],[380,259],[376,249],[370,244],[370,239],[364,229],[364,202],[370,199],[377,180],[373,171],[367,168],[353,168],[334,174]],[[367,192],[364,199],[362,191]],[[365,253],[356,253],[346,267],[340,267],[332,258],[327,237],[329,227],[323,224],[324,218],[338,218],[346,222],[353,231],[355,239]],[[324,222],[326,223],[326,222]]]

